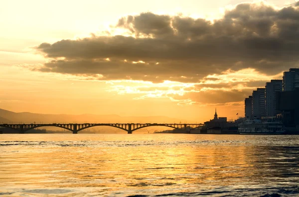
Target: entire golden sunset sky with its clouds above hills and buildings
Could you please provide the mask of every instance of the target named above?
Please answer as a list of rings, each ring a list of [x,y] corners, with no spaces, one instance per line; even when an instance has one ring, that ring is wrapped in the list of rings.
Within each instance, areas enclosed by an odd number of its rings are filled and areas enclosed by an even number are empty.
[[[236,119],[299,67],[296,1],[1,0],[0,26],[15,112]]]

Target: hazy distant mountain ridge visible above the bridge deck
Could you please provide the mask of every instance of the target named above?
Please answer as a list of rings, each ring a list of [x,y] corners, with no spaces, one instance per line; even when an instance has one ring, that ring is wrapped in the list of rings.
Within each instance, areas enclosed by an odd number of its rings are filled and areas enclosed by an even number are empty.
[[[171,118],[167,116],[119,116],[115,114],[110,115],[95,115],[95,114],[40,114],[30,112],[12,112],[4,109],[0,109],[0,122],[2,123],[179,123],[185,122],[184,119]]]

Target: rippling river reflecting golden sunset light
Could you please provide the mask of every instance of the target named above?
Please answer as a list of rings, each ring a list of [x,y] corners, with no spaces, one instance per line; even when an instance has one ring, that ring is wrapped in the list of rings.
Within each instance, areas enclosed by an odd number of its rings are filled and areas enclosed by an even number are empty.
[[[0,195],[299,196],[299,136],[1,134]]]

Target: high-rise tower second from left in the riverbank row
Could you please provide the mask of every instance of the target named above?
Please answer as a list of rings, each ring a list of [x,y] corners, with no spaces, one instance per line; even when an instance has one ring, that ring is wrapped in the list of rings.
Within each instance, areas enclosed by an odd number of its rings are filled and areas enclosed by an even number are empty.
[[[266,116],[265,109],[265,88],[258,88],[252,93],[252,116],[256,118],[261,118]]]

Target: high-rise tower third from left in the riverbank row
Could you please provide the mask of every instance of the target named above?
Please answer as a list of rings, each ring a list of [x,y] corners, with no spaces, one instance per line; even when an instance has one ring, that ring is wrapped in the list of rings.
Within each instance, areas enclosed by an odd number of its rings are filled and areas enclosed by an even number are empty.
[[[282,92],[283,80],[271,80],[266,83],[265,106],[266,116],[276,116],[279,112],[276,110],[276,92]]]

